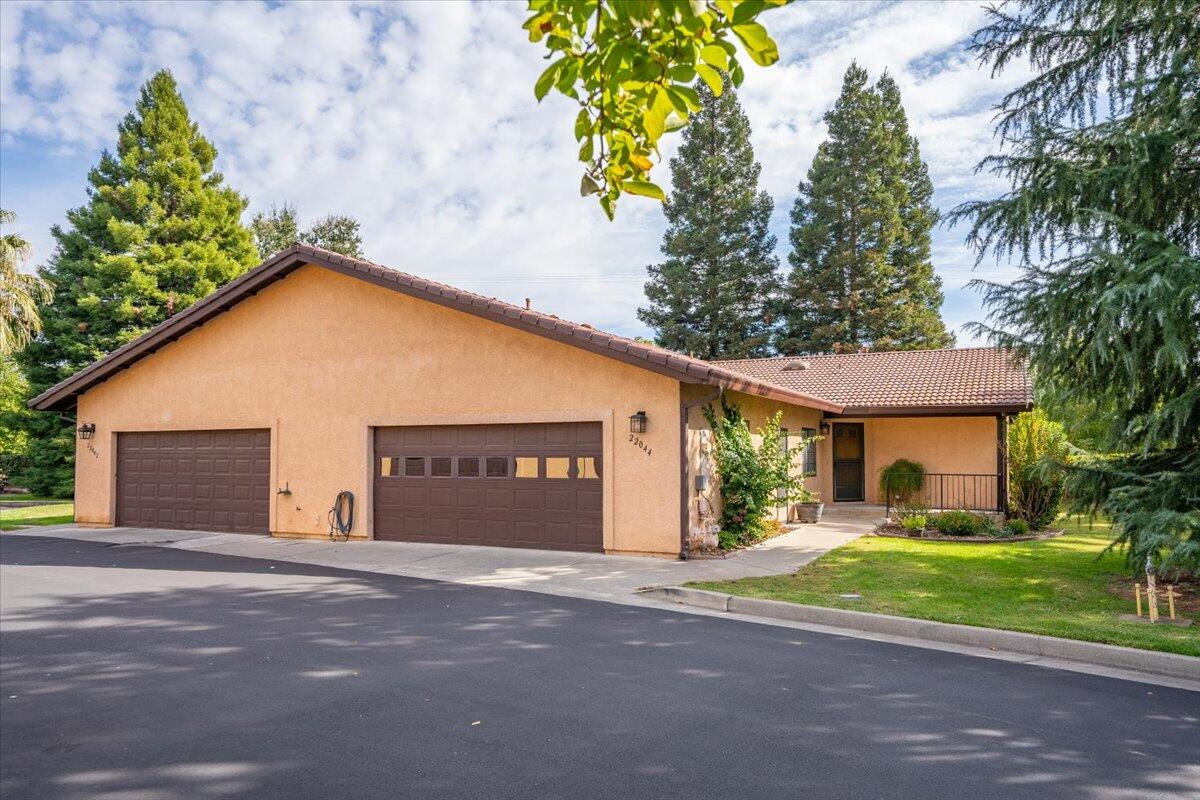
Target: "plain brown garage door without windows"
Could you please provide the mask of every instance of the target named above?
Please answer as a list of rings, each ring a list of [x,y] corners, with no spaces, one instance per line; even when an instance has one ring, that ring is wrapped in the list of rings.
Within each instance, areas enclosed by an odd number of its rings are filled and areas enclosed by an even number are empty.
[[[269,533],[270,431],[116,435],[116,524]]]

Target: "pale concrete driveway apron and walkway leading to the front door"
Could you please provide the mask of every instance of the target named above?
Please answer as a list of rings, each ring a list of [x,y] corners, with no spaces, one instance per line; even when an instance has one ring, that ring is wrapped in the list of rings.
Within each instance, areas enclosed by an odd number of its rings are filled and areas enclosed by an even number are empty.
[[[869,519],[845,518],[802,525],[726,559],[646,558],[564,553],[508,547],[413,542],[329,542],[139,528],[26,528],[14,535],[79,541],[155,545],[184,551],[275,559],[343,570],[446,581],[476,587],[524,589],[550,595],[655,604],[634,594],[643,587],[684,581],[722,581],[792,572],[872,528]]]

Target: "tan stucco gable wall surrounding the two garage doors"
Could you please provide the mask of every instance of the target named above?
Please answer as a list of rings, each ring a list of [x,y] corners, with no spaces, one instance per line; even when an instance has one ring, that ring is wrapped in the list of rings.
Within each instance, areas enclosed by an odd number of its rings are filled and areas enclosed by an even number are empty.
[[[115,519],[114,433],[271,429],[271,531],[324,535],[341,489],[371,534],[371,426],[604,423],[605,547],[679,551],[679,383],[306,266],[79,398],[76,515]],[[628,417],[644,410],[641,437]]]

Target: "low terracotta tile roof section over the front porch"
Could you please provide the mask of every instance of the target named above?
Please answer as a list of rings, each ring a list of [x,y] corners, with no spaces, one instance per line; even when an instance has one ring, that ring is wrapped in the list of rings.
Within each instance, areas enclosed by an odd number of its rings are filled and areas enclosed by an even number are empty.
[[[1024,365],[996,348],[847,353],[718,361],[720,366],[845,407],[844,414],[894,409],[1030,408]]]

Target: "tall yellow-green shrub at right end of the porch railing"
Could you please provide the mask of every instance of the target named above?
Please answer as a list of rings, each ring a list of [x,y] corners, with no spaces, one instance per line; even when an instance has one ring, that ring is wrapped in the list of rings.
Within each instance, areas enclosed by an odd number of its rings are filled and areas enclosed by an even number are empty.
[[[1008,516],[1045,528],[1062,507],[1067,434],[1042,409],[1019,414],[1008,427]]]

